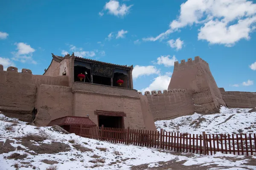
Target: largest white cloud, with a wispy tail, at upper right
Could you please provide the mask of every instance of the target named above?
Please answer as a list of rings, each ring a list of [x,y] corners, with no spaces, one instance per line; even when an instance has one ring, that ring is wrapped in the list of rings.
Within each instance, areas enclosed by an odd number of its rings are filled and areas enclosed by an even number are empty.
[[[199,29],[198,40],[210,44],[232,46],[241,39],[249,40],[256,28],[256,4],[249,0],[187,0],[180,5],[180,14],[169,29],[157,37],[144,38],[148,41],[162,40],[173,31],[194,24]]]

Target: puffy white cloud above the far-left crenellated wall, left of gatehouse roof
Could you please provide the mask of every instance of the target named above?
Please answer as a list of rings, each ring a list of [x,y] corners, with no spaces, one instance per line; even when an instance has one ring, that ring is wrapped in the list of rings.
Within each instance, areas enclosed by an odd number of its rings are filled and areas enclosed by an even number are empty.
[[[30,62],[32,64],[37,64],[37,62],[32,58],[33,52],[35,52],[34,48],[24,42],[15,42],[15,45],[17,45],[17,51],[12,52],[14,55],[12,58],[13,60],[20,61],[22,63]]]

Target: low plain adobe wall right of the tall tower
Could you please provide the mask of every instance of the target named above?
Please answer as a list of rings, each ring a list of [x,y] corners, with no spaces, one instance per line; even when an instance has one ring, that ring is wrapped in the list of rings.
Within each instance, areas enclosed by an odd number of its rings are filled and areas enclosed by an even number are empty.
[[[228,108],[256,107],[256,92],[224,91],[221,94]]]

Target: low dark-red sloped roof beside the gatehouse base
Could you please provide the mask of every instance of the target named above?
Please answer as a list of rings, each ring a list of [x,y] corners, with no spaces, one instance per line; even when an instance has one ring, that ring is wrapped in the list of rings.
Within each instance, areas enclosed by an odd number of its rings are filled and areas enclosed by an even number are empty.
[[[96,124],[89,119],[89,117],[78,117],[78,116],[65,116],[58,119],[54,119],[47,126],[63,126],[63,125],[88,125],[96,126]]]

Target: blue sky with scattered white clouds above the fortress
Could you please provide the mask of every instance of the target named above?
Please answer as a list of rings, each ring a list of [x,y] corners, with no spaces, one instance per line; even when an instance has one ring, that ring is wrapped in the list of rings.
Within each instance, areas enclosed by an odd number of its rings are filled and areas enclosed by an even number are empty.
[[[0,64],[43,74],[51,53],[75,52],[134,65],[134,88],[151,91],[200,56],[218,87],[256,91],[256,1],[228,1],[1,1]]]

